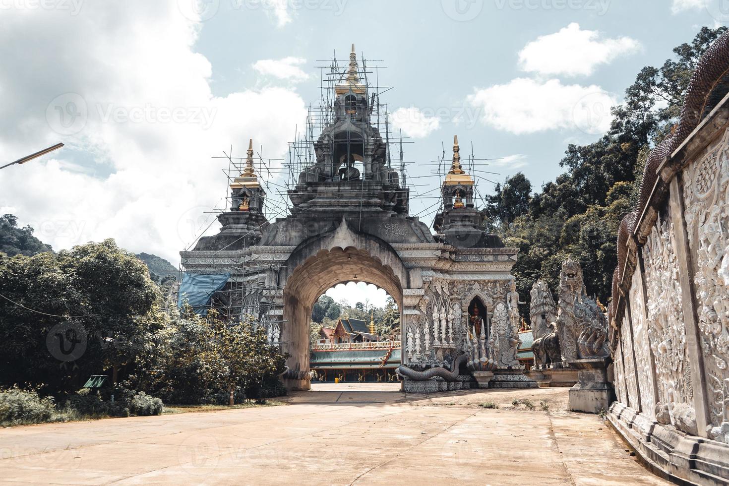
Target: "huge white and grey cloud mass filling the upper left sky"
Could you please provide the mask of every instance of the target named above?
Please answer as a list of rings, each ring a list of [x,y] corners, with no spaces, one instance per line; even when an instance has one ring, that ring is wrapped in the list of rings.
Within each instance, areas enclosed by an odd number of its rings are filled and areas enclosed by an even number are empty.
[[[224,162],[211,157],[231,144],[240,156],[249,138],[283,157],[305,119],[290,90],[213,95],[211,65],[193,50],[200,25],[176,0],[3,16],[0,152],[14,160],[58,141],[66,148],[3,169],[0,211],[31,223],[55,249],[116,238],[176,264],[214,222],[206,211],[225,204]],[[29,32],[33,42],[23,42]]]

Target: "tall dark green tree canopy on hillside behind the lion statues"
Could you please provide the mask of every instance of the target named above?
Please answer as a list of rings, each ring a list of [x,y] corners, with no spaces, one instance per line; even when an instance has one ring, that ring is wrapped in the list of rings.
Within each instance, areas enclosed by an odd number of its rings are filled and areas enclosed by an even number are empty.
[[[612,108],[608,132],[592,144],[567,146],[560,162],[566,171],[540,192],[531,193],[529,180],[517,173],[486,198],[488,230],[520,251],[513,274],[526,301],[522,315],[529,316],[529,291],[538,278],[556,291],[568,254],[580,259],[588,293],[608,301],[617,229],[634,208],[645,160],[678,122],[699,58],[726,30],[703,27],[663,66],[642,68],[625,101]]]

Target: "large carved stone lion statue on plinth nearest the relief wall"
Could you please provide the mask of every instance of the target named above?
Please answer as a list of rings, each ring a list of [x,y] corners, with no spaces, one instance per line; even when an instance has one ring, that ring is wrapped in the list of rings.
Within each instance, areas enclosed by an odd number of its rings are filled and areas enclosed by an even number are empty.
[[[582,267],[572,256],[562,264],[555,326],[565,361],[609,356],[607,317],[588,297]]]

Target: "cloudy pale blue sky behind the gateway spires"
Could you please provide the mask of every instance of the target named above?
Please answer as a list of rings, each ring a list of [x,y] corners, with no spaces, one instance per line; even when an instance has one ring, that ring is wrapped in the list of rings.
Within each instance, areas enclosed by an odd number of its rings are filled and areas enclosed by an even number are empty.
[[[254,138],[281,159],[319,96],[317,60],[382,60],[408,174],[461,141],[479,170],[553,179],[640,68],[660,66],[720,0],[0,0],[0,211],[55,249],[116,238],[179,262],[225,203],[220,158]],[[273,161],[272,165],[285,163]],[[421,165],[418,165],[421,164]],[[276,174],[274,174],[276,176]],[[410,179],[413,194],[437,178]],[[276,195],[281,180],[271,179]],[[481,180],[482,193],[493,184]],[[432,221],[421,197],[413,214]],[[272,206],[274,207],[274,206]],[[437,208],[437,207],[436,207]],[[271,217],[276,216],[273,210]],[[281,216],[281,214],[278,214]]]

